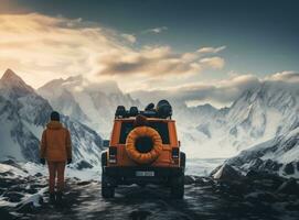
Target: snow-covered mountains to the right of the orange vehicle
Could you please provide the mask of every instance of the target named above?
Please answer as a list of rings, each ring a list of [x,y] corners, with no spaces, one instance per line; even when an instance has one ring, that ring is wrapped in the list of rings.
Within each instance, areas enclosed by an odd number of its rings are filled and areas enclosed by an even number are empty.
[[[299,122],[299,87],[265,81],[246,90],[229,108],[174,108],[179,136],[189,155],[229,157],[284,134]]]

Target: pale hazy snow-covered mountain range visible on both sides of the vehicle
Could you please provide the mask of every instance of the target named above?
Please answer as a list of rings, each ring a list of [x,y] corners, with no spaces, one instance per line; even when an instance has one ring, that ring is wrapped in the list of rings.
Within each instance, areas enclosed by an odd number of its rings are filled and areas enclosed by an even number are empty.
[[[55,79],[38,92],[58,111],[108,138],[118,105],[146,106],[124,95],[114,81],[90,82],[82,76]],[[231,107],[186,107],[170,98],[178,135],[189,157],[231,157],[282,134],[299,121],[299,87],[265,81],[246,90]],[[168,99],[169,97],[165,97]]]

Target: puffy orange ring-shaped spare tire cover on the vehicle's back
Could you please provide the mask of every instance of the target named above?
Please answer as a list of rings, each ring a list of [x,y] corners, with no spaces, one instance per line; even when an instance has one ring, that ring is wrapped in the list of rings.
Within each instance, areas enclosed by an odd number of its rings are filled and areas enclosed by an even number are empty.
[[[136,148],[136,140],[148,136],[152,140],[152,150],[148,153],[140,153]],[[160,134],[150,127],[137,127],[130,131],[126,140],[126,152],[128,156],[138,164],[150,164],[154,162],[162,151],[162,139]]]

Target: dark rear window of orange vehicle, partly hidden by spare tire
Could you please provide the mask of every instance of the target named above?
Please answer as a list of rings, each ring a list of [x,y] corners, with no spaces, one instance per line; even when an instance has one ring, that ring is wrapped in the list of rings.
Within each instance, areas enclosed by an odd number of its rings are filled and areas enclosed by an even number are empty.
[[[158,131],[162,139],[163,144],[169,144],[169,131],[168,131],[168,123],[156,121],[156,122],[149,122],[149,127]],[[126,139],[130,131],[134,129],[132,122],[122,122],[121,129],[120,129],[120,136],[119,136],[119,143],[125,144]]]

